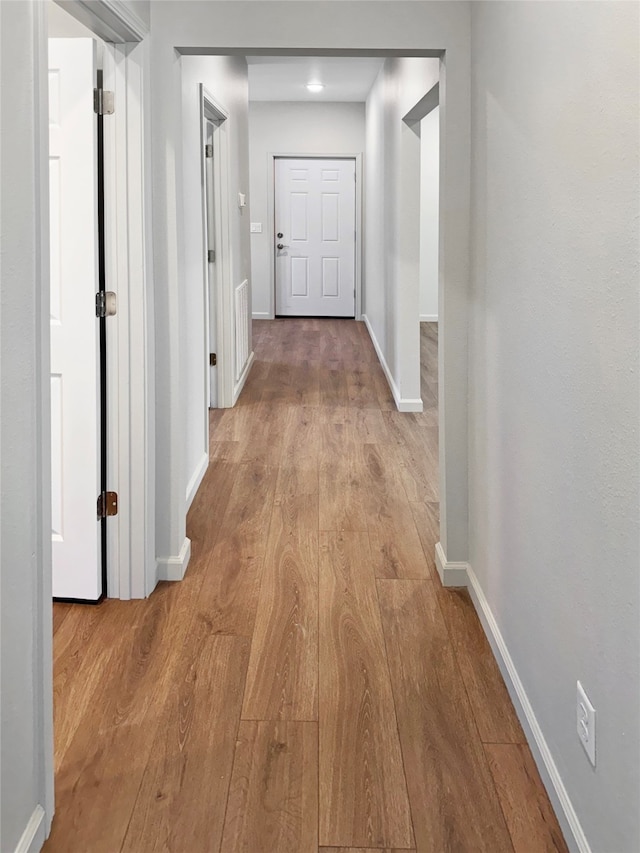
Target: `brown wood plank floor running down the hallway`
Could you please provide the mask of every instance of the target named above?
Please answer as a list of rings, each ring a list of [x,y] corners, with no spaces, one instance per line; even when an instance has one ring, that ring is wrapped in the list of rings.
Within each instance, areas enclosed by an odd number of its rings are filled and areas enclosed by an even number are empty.
[[[181,583],[54,606],[46,853],[566,851],[475,611],[440,586],[437,327],[395,410],[363,324],[254,323]]]

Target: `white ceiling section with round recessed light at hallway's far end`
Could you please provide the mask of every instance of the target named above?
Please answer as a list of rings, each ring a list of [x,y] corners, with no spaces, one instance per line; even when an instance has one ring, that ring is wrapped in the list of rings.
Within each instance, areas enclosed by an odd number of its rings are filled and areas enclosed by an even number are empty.
[[[366,101],[384,60],[348,56],[247,56],[251,101]],[[317,95],[306,88],[324,83]]]

